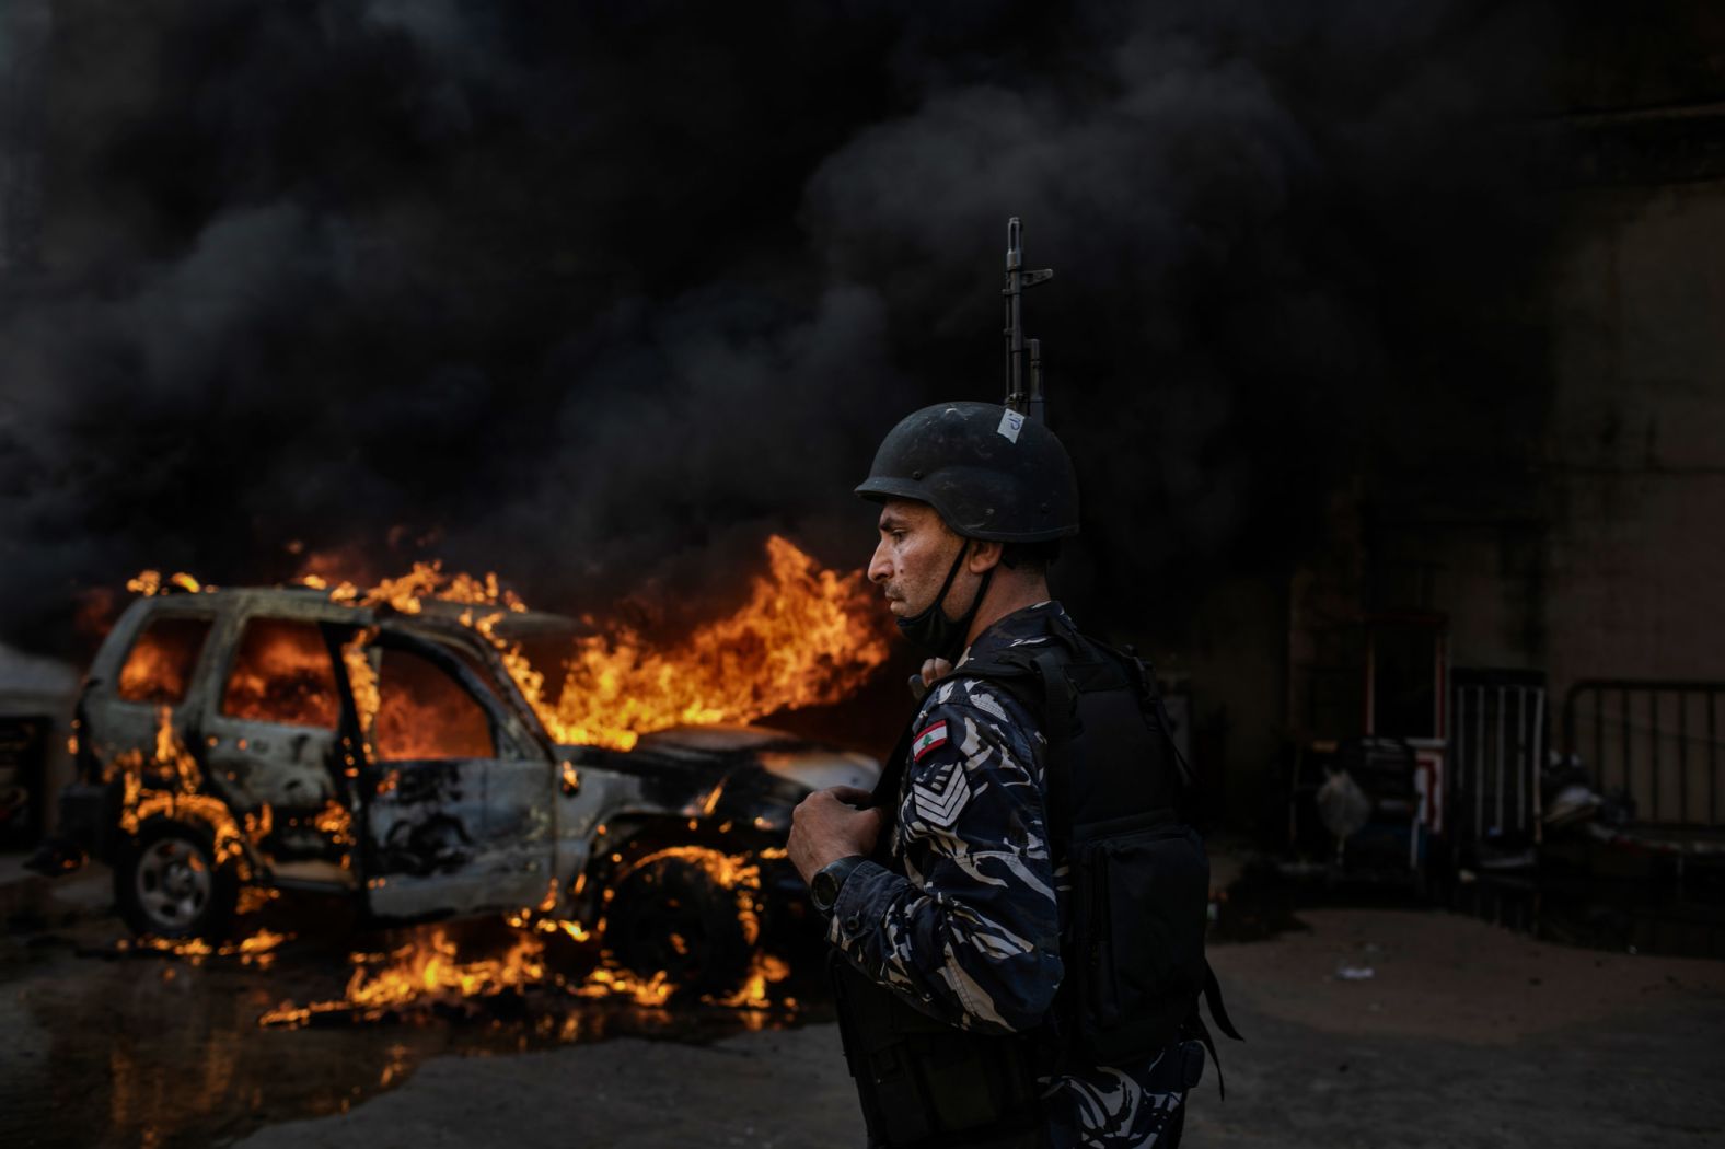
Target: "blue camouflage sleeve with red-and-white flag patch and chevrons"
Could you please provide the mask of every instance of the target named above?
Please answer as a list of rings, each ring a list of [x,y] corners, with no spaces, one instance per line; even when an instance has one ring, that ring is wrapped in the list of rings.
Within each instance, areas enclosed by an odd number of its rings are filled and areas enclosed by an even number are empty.
[[[942,1021],[1033,1028],[1063,973],[1042,735],[1014,699],[969,678],[937,687],[916,733],[895,830],[907,876],[854,870],[828,940]]]

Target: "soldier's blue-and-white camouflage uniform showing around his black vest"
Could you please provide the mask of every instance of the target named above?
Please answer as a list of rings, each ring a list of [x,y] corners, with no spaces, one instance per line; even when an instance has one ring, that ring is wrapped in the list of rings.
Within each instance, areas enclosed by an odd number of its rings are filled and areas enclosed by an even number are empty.
[[[890,866],[862,863],[833,906],[828,940],[864,975],[942,1021],[980,1033],[1042,1025],[1061,982],[1070,913],[1064,859],[1044,816],[1047,740],[1011,694],[964,678],[969,659],[1051,642],[1057,602],[983,631],[930,692],[899,794]],[[1057,1149],[1154,1146],[1185,1096],[1156,1090],[1156,1063],[1045,1078]]]

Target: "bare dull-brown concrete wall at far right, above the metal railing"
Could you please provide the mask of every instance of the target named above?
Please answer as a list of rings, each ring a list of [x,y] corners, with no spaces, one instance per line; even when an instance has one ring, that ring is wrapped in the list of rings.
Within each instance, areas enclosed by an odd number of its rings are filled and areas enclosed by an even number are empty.
[[[1551,307],[1552,688],[1725,680],[1725,183],[1587,193]]]

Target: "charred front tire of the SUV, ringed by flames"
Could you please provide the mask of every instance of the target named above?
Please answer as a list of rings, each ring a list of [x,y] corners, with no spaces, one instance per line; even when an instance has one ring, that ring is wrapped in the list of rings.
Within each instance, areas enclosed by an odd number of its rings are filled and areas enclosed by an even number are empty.
[[[688,849],[647,854],[623,871],[612,887],[604,947],[637,978],[662,971],[673,994],[695,995],[735,992],[754,958],[737,890],[721,885]]]

